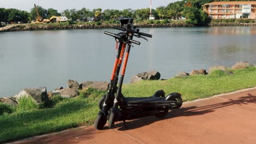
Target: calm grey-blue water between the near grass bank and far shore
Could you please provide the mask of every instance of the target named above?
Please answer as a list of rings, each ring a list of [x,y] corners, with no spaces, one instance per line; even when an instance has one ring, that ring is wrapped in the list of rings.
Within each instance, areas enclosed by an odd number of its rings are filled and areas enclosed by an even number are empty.
[[[68,79],[109,81],[115,59],[114,38],[104,31],[28,31],[0,33],[0,97],[27,87],[48,91],[67,87]],[[149,42],[132,47],[125,83],[143,71],[158,70],[161,79],[179,71],[231,67],[236,62],[256,64],[256,27],[143,28]]]

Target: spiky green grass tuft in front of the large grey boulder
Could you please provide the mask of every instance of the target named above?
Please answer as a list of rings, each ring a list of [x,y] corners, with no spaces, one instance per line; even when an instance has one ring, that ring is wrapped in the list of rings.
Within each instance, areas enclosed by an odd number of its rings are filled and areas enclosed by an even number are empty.
[[[18,105],[16,107],[17,112],[26,112],[38,109],[38,105],[31,97],[22,97],[18,100]]]

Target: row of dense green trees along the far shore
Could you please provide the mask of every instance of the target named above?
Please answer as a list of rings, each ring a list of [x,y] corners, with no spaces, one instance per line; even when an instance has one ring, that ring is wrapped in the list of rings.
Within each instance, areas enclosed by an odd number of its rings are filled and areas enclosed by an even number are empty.
[[[173,3],[169,3],[166,6],[160,6],[156,9],[152,9],[152,14],[155,16],[156,20],[172,19],[181,20],[185,17],[187,23],[192,23],[194,25],[204,25],[208,23],[210,19],[208,15],[202,11],[202,5],[205,3],[210,3],[214,1],[224,1],[224,0],[182,0]],[[229,1],[229,0],[225,0]],[[234,1],[234,0],[232,0]],[[238,1],[238,0],[235,0]],[[241,0],[240,0],[241,1]],[[246,0],[242,0],[246,1]],[[49,19],[51,16],[65,15],[68,19],[72,21],[86,21],[88,17],[95,17],[101,21],[111,21],[118,20],[119,17],[134,17],[138,21],[147,20],[150,14],[149,8],[144,9],[66,9],[61,13],[59,11],[49,8],[45,9],[37,6],[38,12],[42,19]],[[36,20],[37,13],[36,9],[31,8],[30,12],[18,9],[5,9],[0,8],[0,22],[28,22]]]

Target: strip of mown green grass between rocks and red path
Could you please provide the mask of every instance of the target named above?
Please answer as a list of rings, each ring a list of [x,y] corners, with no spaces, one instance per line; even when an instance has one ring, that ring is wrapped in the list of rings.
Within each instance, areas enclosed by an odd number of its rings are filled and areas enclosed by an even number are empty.
[[[189,101],[256,86],[256,68],[231,71],[234,75],[214,71],[210,75],[195,75],[165,81],[141,81],[124,85],[123,93],[129,97],[148,97],[155,91],[164,89],[166,94],[182,93],[183,100]],[[97,102],[106,92],[87,89],[79,93],[79,97],[73,99],[54,96],[51,99],[52,108],[33,107],[21,112],[16,110],[10,114],[5,112],[0,116],[0,143],[79,125],[92,125],[98,112]]]

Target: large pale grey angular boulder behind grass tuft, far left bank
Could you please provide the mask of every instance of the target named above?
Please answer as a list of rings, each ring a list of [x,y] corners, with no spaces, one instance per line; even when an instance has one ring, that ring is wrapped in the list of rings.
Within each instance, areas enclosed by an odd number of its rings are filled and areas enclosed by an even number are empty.
[[[46,87],[25,88],[19,94],[15,95],[16,99],[22,97],[31,97],[37,104],[42,104],[49,100]]]

